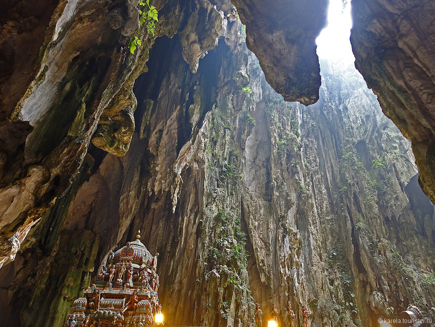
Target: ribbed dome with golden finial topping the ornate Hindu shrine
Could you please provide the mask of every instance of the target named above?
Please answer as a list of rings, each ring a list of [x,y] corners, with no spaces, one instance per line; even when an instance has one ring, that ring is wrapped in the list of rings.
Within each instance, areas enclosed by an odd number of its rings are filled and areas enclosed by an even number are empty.
[[[153,261],[153,256],[145,245],[140,242],[140,231],[136,235],[136,239],[132,242],[127,242],[127,244],[121,247],[113,254],[113,259],[110,260],[112,264],[118,262],[131,262],[137,267],[145,265],[150,267]]]

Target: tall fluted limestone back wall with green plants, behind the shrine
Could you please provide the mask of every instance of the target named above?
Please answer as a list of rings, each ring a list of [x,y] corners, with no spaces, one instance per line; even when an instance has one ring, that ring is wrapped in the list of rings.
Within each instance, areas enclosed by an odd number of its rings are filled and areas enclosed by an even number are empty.
[[[322,63],[320,100],[285,103],[228,3],[192,4],[159,11],[161,24],[178,25],[157,27],[171,38],[139,58],[147,72],[134,84],[125,156],[90,145],[20,249],[8,240],[17,253],[0,270],[0,325],[60,326],[101,255],[138,229],[160,253],[167,324],[253,326],[254,302],[264,319],[275,303],[281,325],[287,300],[298,324],[305,304],[312,326],[369,326],[373,312],[434,306],[434,207],[409,142],[360,76]],[[211,36],[222,26],[196,74],[182,35],[192,12],[215,17]],[[111,103],[132,107],[125,94]]]

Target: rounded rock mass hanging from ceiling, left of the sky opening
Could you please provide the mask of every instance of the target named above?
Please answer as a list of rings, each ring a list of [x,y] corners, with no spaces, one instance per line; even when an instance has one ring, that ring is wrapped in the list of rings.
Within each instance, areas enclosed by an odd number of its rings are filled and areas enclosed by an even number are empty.
[[[326,26],[326,0],[231,0],[246,25],[246,46],[267,83],[285,101],[318,100],[320,68],[315,39]]]

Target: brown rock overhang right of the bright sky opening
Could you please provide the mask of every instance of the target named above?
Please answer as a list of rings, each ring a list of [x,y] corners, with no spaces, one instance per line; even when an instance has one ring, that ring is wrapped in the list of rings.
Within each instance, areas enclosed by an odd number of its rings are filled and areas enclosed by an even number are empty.
[[[435,4],[352,0],[355,65],[383,112],[411,140],[419,182],[435,200]]]

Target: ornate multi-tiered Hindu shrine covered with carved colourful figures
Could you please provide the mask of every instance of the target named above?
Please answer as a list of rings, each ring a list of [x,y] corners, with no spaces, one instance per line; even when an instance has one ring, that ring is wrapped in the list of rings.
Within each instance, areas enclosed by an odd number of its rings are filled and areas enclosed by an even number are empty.
[[[113,253],[98,270],[97,280],[74,301],[64,326],[137,327],[161,316],[158,304],[157,256],[136,239]],[[157,319],[156,319],[157,320]],[[162,320],[162,319],[161,319]],[[160,322],[162,323],[162,321]]]

